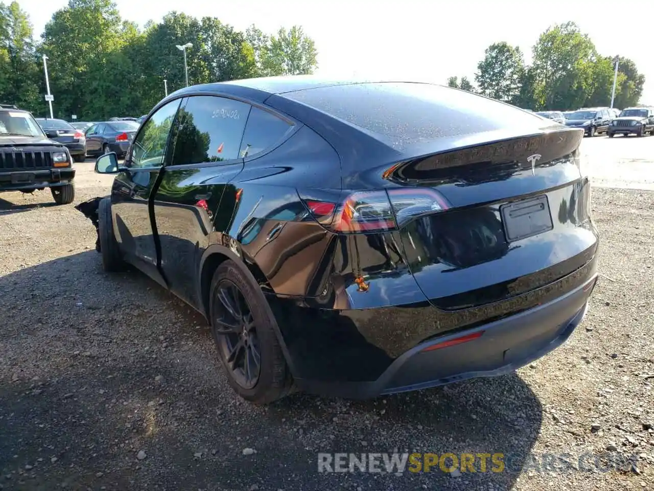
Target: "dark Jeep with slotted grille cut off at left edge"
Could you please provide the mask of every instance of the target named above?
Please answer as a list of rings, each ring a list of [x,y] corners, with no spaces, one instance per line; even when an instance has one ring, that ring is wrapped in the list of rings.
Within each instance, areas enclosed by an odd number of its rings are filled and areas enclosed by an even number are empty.
[[[49,139],[27,111],[0,107],[0,191],[31,193],[50,188],[57,204],[75,199],[69,149]]]

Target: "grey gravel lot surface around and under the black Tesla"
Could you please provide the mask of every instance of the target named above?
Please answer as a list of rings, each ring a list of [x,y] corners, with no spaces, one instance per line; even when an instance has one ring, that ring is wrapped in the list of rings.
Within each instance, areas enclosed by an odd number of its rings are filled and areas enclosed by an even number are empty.
[[[583,143],[600,184],[654,183],[654,162],[629,145],[654,158],[654,137]],[[77,164],[76,204],[108,192],[111,177],[92,166]],[[233,395],[198,314],[138,272],[103,274],[90,221],[50,201],[0,195],[0,489],[654,489],[652,192],[593,190],[604,276],[581,327],[534,365],[373,401],[296,394],[267,408]],[[318,452],[394,449],[504,452],[530,465],[317,472]],[[543,471],[544,453],[638,463]]]

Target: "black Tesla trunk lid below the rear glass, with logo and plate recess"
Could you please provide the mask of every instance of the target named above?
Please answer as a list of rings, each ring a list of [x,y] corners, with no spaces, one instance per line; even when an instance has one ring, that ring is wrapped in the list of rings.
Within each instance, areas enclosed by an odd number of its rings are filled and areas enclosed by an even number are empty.
[[[593,257],[597,238],[590,184],[579,171],[580,140],[576,130],[547,132],[390,168],[405,256],[434,306],[458,310],[508,299]],[[404,213],[411,200],[403,205],[400,197],[411,188],[433,190],[434,209]]]

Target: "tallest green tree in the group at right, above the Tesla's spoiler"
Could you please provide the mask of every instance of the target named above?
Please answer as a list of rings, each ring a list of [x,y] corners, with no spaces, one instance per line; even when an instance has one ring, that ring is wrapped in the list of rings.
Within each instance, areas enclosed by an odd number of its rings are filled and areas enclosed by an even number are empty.
[[[595,46],[574,22],[549,27],[534,46],[534,95],[538,109],[585,103],[592,88]]]

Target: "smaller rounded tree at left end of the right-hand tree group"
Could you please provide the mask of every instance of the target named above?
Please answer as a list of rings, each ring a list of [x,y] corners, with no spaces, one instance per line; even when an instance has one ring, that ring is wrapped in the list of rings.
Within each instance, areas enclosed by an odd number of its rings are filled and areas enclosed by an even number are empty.
[[[477,65],[475,81],[479,92],[504,102],[514,100],[520,92],[525,71],[523,53],[502,41],[486,48],[484,59]]]

